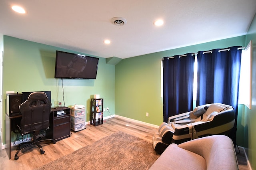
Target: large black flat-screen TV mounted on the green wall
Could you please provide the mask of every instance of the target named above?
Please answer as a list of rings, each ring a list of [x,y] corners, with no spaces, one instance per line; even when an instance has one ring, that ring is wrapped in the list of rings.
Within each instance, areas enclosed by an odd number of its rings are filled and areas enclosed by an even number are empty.
[[[96,79],[99,58],[56,51],[55,75],[60,79]]]

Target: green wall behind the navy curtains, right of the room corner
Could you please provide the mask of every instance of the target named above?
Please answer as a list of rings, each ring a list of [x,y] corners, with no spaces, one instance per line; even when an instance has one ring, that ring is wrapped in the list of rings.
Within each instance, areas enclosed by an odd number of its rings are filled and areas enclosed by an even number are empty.
[[[163,122],[160,59],[235,45],[244,46],[245,36],[123,59],[116,65],[116,115],[160,125]],[[149,117],[146,117],[146,112],[149,113]]]

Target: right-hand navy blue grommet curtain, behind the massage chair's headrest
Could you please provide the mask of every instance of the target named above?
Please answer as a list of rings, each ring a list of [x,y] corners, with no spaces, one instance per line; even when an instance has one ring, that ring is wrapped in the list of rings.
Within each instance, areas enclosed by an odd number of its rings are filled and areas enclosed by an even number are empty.
[[[236,111],[236,121],[230,138],[236,144],[238,89],[241,65],[241,49],[229,47],[229,51],[213,49],[198,51],[198,76],[196,105],[224,103]],[[220,51],[219,51],[220,50]]]

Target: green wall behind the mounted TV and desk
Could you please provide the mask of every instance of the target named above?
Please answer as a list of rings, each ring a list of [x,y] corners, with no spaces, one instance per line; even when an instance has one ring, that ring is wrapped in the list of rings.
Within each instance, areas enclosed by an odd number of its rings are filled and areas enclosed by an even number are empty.
[[[76,51],[4,36],[3,113],[6,113],[6,91],[51,91],[52,106],[57,106],[58,100],[61,100],[62,104],[65,101],[66,107],[74,104],[85,105],[86,121],[90,121],[90,98],[94,94],[100,94],[100,97],[104,98],[104,107],[109,107],[110,113],[114,114],[115,65],[106,64],[106,59],[99,57],[95,80],[63,79],[63,101],[62,81],[54,79],[56,50],[76,53]],[[104,113],[104,117],[106,116],[109,116],[108,112]],[[3,125],[4,129],[5,125]]]

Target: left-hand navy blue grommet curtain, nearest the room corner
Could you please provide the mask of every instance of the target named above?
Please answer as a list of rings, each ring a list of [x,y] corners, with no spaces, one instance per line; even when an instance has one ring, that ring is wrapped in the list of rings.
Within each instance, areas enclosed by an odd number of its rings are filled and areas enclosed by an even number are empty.
[[[194,61],[192,53],[163,58],[163,113],[168,117],[193,110]]]

